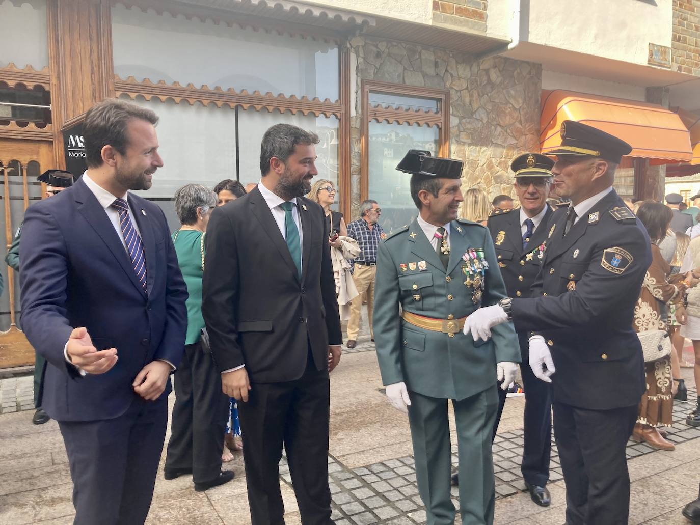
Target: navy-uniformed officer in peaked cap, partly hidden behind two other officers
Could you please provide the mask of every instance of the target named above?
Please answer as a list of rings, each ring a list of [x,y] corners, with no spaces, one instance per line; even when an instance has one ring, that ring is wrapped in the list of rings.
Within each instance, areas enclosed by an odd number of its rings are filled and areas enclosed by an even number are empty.
[[[512,211],[494,211],[486,225],[496,246],[500,274],[510,297],[529,297],[530,287],[544,258],[542,244],[547,239],[547,222],[553,213],[547,205],[552,166],[554,161],[539,153],[524,153],[515,158],[510,169],[515,174],[514,190],[520,207]],[[528,365],[528,332],[519,332],[518,342],[523,358],[520,372],[525,391],[520,469],[532,500],[547,507],[551,501],[546,485],[552,448],[552,395],[549,384],[537,379]],[[498,389],[494,437],[506,393],[506,390]]]

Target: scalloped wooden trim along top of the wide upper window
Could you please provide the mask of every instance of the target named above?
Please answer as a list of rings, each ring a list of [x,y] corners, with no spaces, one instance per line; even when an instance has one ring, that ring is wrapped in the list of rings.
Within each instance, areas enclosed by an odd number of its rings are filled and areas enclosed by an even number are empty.
[[[274,25],[274,22],[270,22],[268,27],[262,26],[262,25],[255,25],[252,24],[251,22],[248,22],[246,20],[241,20],[240,18],[237,17],[237,19],[234,21],[230,18],[224,18],[223,16],[207,16],[207,15],[196,15],[191,12],[188,8],[184,6],[180,6],[180,9],[178,10],[176,6],[164,6],[161,4],[156,4],[154,3],[153,5],[144,5],[143,3],[139,2],[138,0],[111,0],[111,6],[124,6],[127,9],[132,9],[132,8],[137,8],[138,10],[141,11],[141,13],[146,13],[149,10],[152,10],[154,13],[157,15],[164,15],[165,13],[171,15],[173,18],[176,18],[179,15],[182,15],[183,17],[186,18],[186,20],[195,20],[197,22],[202,22],[205,23],[207,21],[212,22],[215,25],[225,25],[226,27],[238,27],[239,29],[253,29],[256,33],[258,31],[264,31],[267,34],[277,34],[279,36],[290,36],[291,38],[303,38],[304,40],[313,40],[316,42],[325,42],[325,43],[330,43],[330,44],[335,44],[339,45],[340,44],[340,39],[333,37],[333,36],[327,36],[323,34],[317,34],[317,33],[311,33],[307,31],[301,31],[298,29],[295,29],[294,31],[288,31],[287,29],[282,29],[281,27],[276,27]],[[204,7],[204,6],[203,6]],[[237,13],[232,13],[232,16],[236,15]],[[248,15],[248,13],[240,13],[243,16],[253,16],[253,15]]]

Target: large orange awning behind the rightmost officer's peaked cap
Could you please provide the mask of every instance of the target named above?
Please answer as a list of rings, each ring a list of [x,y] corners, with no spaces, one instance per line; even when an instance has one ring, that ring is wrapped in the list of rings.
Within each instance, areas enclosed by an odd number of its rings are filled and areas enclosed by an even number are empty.
[[[575,91],[542,90],[540,107],[542,153],[561,144],[559,129],[564,120],[576,120],[629,143],[631,157],[650,158],[661,161],[654,164],[664,164],[689,162],[693,156],[690,134],[680,116],[657,104]]]

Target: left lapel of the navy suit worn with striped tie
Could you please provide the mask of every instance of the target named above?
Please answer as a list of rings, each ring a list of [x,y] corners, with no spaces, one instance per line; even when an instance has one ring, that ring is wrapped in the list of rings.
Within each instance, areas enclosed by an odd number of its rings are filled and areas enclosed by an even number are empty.
[[[136,272],[134,272],[134,267],[132,267],[126,248],[109,220],[102,204],[99,204],[97,197],[92,194],[90,188],[85,186],[82,179],[78,180],[78,182],[73,185],[73,188],[75,200],[76,203],[78,203],[78,211],[85,217],[85,221],[87,221],[97,233],[97,236],[106,244],[109,251],[112,252],[112,255],[114,255],[114,258],[122,267],[125,274],[127,274],[127,277],[131,279],[137,290],[144,294],[145,297],[146,293],[136,277]],[[148,254],[146,254],[146,264],[148,264]],[[146,272],[148,272],[148,267],[146,267]]]

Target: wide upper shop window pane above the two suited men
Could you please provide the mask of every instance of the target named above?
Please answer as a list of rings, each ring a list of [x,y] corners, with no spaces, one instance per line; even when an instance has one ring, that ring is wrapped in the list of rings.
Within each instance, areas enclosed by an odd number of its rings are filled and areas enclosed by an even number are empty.
[[[335,43],[152,10],[112,8],[114,72],[287,97],[339,98]]]

